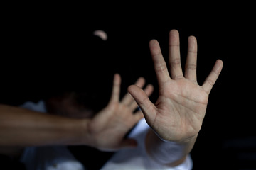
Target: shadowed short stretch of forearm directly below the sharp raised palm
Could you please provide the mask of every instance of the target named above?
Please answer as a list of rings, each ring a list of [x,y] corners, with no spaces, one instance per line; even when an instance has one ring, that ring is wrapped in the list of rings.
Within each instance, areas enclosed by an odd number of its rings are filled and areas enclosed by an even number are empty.
[[[146,135],[146,152],[154,161],[168,166],[182,164],[191,152],[196,137],[186,142],[165,142],[161,140],[153,130]]]

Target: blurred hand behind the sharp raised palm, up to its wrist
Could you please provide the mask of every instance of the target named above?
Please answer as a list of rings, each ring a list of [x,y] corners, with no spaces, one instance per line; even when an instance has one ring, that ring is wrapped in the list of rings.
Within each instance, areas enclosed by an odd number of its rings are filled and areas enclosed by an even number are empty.
[[[135,147],[137,142],[134,139],[124,139],[124,136],[144,118],[142,111],[137,111],[138,105],[127,93],[119,101],[121,77],[119,74],[114,74],[112,96],[108,105],[102,109],[90,121],[88,126],[92,145],[97,149],[112,151],[122,149],[124,147]],[[135,85],[142,88],[145,84],[145,79],[140,77]],[[153,92],[153,86],[147,85],[144,89],[147,96]],[[134,111],[136,111],[134,113]]]

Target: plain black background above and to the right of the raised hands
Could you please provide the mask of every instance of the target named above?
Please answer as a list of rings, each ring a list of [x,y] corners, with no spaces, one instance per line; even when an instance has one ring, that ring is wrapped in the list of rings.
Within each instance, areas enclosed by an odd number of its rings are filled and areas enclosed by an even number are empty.
[[[188,36],[198,40],[198,84],[215,60],[224,62],[191,152],[194,169],[256,169],[255,24],[249,4],[206,5],[201,11],[165,5],[27,5],[8,6],[2,15],[1,103],[79,91],[100,109],[110,98],[116,72],[122,76],[121,95],[142,76],[154,85],[151,101],[156,101],[149,40],[159,40],[167,61],[169,30],[177,29],[183,64]],[[108,40],[92,35],[94,30],[105,30]]]

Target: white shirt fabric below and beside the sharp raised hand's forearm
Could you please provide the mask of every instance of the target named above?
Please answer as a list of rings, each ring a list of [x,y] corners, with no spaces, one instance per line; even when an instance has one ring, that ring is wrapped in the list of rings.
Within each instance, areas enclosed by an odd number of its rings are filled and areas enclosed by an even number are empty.
[[[190,170],[192,169],[193,162],[188,156],[183,164],[176,167],[162,166],[154,162],[151,157],[146,153],[144,145],[146,132],[149,130],[149,125],[145,119],[139,121],[136,127],[129,134],[129,137],[136,139],[138,147],[134,149],[122,149],[102,167],[102,170]]]

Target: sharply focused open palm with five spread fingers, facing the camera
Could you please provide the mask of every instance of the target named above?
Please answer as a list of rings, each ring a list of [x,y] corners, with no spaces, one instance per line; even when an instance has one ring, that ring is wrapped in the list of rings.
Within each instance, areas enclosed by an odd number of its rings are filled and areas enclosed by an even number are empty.
[[[197,42],[188,38],[188,55],[185,73],[181,69],[179,35],[177,30],[169,33],[169,67],[161,54],[159,42],[149,42],[154,69],[159,84],[159,98],[151,103],[149,97],[139,86],[129,86],[128,91],[142,108],[149,126],[161,140],[186,142],[198,135],[206,114],[208,95],[223,67],[217,60],[200,86],[196,80]]]

